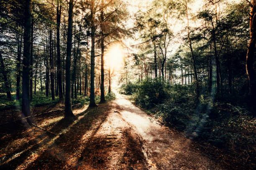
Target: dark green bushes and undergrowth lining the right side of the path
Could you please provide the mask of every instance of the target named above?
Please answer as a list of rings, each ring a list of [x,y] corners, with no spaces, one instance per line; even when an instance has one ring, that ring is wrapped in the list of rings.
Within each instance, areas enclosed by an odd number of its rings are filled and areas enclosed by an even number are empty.
[[[121,87],[121,92],[131,93],[136,105],[146,108],[161,123],[179,130],[187,138],[230,150],[234,157],[242,153],[244,160],[253,162],[256,118],[246,106],[239,107],[226,100],[215,102],[207,94],[195,102],[194,84],[170,85],[160,78],[129,82],[128,87]]]

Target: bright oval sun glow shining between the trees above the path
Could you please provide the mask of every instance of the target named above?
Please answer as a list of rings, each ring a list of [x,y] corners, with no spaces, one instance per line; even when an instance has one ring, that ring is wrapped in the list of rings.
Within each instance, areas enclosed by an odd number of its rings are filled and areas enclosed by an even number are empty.
[[[119,70],[123,66],[124,52],[119,44],[112,45],[106,53],[106,62],[111,69]]]

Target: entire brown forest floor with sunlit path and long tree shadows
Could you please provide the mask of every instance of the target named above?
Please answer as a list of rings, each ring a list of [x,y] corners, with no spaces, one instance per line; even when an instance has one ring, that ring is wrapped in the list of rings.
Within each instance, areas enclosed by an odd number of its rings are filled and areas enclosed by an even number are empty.
[[[0,128],[0,169],[9,170],[221,170],[197,144],[116,93],[98,107],[74,108],[63,119],[63,104],[37,107],[37,125],[17,122]],[[56,110],[49,112],[49,110]],[[2,114],[2,113],[0,113]]]

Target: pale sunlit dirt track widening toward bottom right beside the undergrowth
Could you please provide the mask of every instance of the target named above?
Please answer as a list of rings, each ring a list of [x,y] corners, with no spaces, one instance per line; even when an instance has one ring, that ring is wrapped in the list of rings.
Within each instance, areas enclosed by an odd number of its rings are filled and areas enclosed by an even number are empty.
[[[202,155],[193,143],[169,128],[159,125],[141,109],[115,91],[113,105],[118,109],[119,125],[129,126],[138,135],[150,170],[220,170]],[[117,115],[115,115],[117,117]],[[121,123],[125,122],[125,123]]]

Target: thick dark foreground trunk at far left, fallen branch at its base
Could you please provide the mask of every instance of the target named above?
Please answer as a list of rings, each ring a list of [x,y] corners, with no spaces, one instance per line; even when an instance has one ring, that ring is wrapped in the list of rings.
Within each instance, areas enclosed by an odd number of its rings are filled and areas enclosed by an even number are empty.
[[[30,97],[29,97],[29,80],[30,80],[30,48],[31,48],[31,11],[32,0],[25,0],[24,16],[24,45],[23,45],[23,69],[22,69],[22,106],[21,115],[24,117],[31,116]],[[31,117],[27,118],[28,123],[32,124]]]

